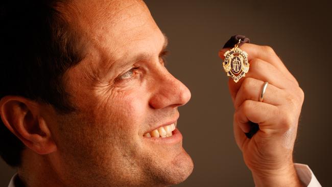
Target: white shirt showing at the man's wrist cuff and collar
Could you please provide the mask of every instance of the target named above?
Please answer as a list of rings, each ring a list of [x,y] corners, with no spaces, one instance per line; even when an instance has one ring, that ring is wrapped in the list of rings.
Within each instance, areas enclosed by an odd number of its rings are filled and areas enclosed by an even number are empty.
[[[295,166],[297,176],[299,177],[299,179],[305,186],[307,186],[307,187],[321,187],[322,186],[316,179],[314,173],[311,171],[309,166],[302,165],[301,163],[295,163],[294,166]],[[8,187],[15,187],[14,181],[15,181],[16,177],[17,177],[17,173],[10,180]]]

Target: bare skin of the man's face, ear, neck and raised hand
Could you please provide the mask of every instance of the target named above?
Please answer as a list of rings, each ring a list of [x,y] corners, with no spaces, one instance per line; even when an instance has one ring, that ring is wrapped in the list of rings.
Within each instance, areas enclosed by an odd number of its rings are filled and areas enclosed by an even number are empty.
[[[180,133],[143,136],[176,122],[178,107],[191,97],[164,67],[167,41],[147,7],[129,0],[74,1],[58,9],[82,31],[88,49],[64,79],[78,110],[59,114],[26,98],[1,99],[4,124],[27,146],[19,177],[27,186],[168,186],[185,180],[193,161]],[[292,154],[303,91],[271,48],[241,48],[249,54],[249,73],[236,84],[229,80],[236,143],[256,186],[301,186]],[[251,139],[244,134],[248,121],[260,127]]]

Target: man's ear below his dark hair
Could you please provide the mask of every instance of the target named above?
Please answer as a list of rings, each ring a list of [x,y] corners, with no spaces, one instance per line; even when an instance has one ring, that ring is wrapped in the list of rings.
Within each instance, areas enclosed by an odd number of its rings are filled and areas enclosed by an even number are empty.
[[[28,148],[38,154],[49,154],[57,147],[42,116],[43,107],[23,97],[5,96],[0,100],[0,115],[5,126]]]

